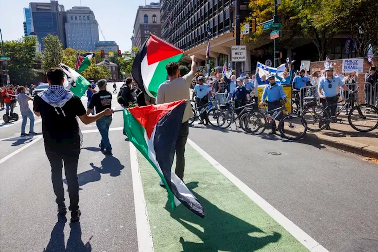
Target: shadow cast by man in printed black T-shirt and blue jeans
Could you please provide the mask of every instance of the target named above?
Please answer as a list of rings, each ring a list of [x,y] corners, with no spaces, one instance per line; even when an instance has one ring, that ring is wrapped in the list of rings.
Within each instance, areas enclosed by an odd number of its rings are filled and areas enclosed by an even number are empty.
[[[90,163],[90,166],[92,167],[91,170],[77,174],[79,187],[90,182],[99,181],[101,179],[101,174],[110,174],[112,177],[119,176],[121,175],[121,170],[125,167],[116,157],[110,155],[107,155],[102,159],[100,167],[95,166],[93,163]],[[67,185],[66,179],[63,179],[63,182]],[[82,190],[82,188],[79,188],[79,190]]]

